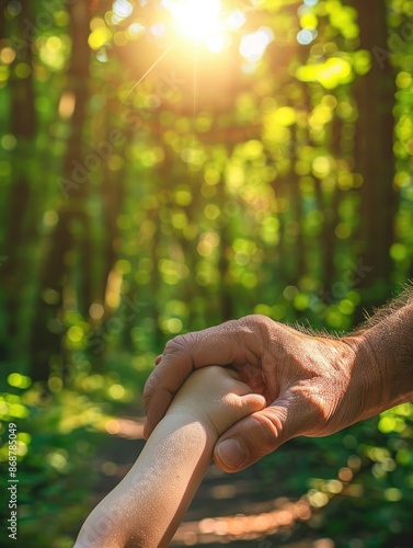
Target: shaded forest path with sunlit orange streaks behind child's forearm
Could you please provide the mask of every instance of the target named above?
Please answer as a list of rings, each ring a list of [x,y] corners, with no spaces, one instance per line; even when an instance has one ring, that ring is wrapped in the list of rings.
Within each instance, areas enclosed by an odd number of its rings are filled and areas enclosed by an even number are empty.
[[[136,415],[135,415],[136,416]],[[107,443],[101,448],[102,473],[96,502],[128,472],[144,447],[144,419],[117,418],[111,422]],[[107,466],[110,463],[110,466]],[[110,470],[110,473],[107,473]],[[260,468],[236,475],[211,464],[186,516],[170,546],[204,548],[230,545],[240,548],[333,548],[331,539],[317,538],[307,521],[311,509],[305,500],[264,496]]]

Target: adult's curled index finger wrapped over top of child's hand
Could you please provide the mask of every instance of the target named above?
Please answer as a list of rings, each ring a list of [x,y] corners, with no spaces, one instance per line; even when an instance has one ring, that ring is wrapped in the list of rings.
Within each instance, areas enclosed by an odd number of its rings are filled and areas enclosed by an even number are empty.
[[[169,341],[144,389],[147,412],[144,435],[150,435],[181,385],[195,368],[245,362],[256,365],[262,347],[259,339],[254,326],[243,319]]]

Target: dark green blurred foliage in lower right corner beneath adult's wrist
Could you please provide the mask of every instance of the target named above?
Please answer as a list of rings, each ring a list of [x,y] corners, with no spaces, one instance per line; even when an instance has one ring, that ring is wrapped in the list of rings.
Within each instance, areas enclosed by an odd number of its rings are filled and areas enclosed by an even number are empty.
[[[412,437],[412,406],[403,404],[328,438],[294,439],[262,461],[263,490],[306,493],[309,536],[340,547],[409,546]]]

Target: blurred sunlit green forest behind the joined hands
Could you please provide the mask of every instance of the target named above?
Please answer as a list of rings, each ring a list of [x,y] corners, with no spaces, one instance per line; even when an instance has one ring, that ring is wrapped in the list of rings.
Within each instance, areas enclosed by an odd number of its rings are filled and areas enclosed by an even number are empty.
[[[0,10],[1,546],[70,548],[170,338],[344,333],[412,278],[413,0]],[[404,404],[213,466],[171,546],[411,547],[412,438]]]

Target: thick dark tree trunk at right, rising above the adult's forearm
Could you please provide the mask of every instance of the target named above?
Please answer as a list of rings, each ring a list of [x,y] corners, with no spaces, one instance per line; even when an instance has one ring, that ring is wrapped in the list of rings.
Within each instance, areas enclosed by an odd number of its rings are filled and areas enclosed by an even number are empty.
[[[360,49],[371,54],[378,46],[388,49],[387,3],[385,0],[352,0],[358,10]],[[363,176],[360,190],[359,264],[370,269],[359,273],[364,308],[378,306],[390,294],[395,192],[393,190],[393,126],[395,78],[390,62],[380,66],[372,55],[370,71],[357,79],[358,107],[355,139],[355,172]],[[359,319],[360,313],[358,315]]]

